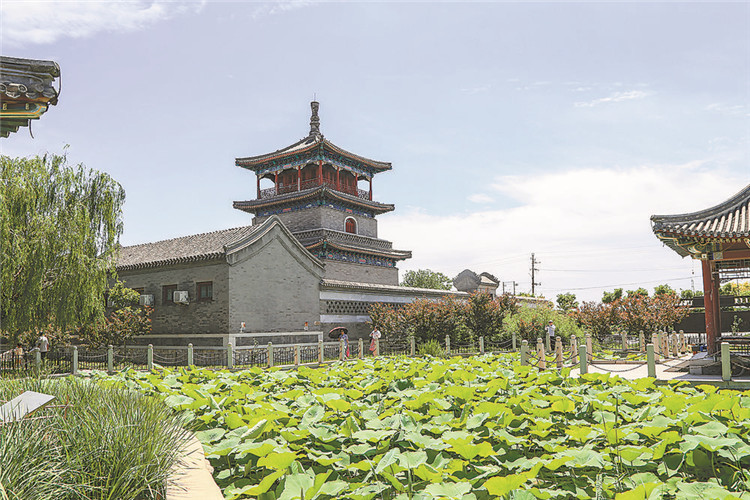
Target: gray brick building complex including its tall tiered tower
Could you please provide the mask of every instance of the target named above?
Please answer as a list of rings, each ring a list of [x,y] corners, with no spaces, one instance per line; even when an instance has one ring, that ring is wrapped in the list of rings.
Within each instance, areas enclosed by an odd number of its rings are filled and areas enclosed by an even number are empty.
[[[121,249],[125,284],[153,305],[154,334],[229,334],[347,326],[369,332],[369,304],[439,299],[446,292],[398,286],[411,252],[378,238],[376,217],[394,206],[373,200],[375,174],[391,164],[350,153],[310,132],[274,153],[237,158],[256,174],[256,198],[234,208],[252,225]],[[262,183],[270,184],[263,187]]]

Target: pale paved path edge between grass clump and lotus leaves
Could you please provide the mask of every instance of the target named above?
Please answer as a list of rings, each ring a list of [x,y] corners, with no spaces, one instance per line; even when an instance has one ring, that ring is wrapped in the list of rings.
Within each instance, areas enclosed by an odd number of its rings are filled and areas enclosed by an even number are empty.
[[[167,483],[166,500],[224,500],[198,438],[191,436],[181,455]]]

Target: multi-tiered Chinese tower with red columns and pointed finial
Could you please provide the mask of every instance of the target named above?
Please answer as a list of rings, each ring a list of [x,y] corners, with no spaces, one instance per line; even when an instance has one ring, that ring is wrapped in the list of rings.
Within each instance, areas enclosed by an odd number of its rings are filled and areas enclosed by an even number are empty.
[[[255,172],[257,198],[235,201],[234,208],[254,214],[253,225],[277,215],[323,260],[326,280],[397,285],[396,263],[411,252],[394,250],[390,241],[378,238],[375,217],[394,206],[372,199],[372,178],[391,164],[328,141],[320,133],[319,104],[311,107],[307,137],[273,153],[236,159],[237,166]],[[261,189],[263,179],[273,187]]]

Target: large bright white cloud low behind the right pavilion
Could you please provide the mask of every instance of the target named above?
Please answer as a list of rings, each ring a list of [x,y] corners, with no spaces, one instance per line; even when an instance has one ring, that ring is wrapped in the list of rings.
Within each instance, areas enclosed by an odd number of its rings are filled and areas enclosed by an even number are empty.
[[[702,162],[502,176],[493,187],[519,202],[512,208],[451,216],[412,210],[382,217],[379,228],[394,248],[413,251],[402,271],[489,271],[528,291],[535,252],[548,298],[574,290],[579,299],[593,300],[602,287],[615,285],[690,288],[693,263],[659,243],[650,216],[708,208],[744,185],[745,179]]]

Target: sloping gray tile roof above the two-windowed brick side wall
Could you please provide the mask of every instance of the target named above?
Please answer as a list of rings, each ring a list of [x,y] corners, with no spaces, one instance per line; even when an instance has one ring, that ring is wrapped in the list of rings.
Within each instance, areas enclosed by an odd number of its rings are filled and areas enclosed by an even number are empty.
[[[260,226],[243,226],[120,248],[117,270],[128,271],[223,257],[225,245],[246,238]]]

